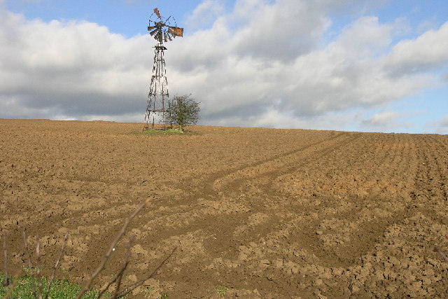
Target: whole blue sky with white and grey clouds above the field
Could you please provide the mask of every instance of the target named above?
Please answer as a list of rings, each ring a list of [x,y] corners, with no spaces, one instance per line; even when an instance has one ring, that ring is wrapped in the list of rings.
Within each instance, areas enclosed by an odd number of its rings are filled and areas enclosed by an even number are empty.
[[[143,123],[153,8],[200,125],[448,134],[446,0],[0,0],[0,118]]]

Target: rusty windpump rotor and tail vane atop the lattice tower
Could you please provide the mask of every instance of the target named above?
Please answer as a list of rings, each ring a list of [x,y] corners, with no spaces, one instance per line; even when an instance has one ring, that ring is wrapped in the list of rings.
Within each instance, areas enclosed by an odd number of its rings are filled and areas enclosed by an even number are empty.
[[[154,13],[149,18],[148,31],[159,43],[172,41],[176,36],[183,36],[183,28],[176,25],[176,20],[170,15],[168,18],[162,17],[158,8],[154,8]]]

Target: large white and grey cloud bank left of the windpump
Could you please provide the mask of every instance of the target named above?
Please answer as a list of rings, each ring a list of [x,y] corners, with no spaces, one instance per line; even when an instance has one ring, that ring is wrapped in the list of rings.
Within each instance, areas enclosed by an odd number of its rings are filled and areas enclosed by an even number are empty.
[[[147,92],[151,65],[141,51],[150,48],[144,37],[125,39],[87,22],[1,14],[0,40],[6,46],[0,49],[0,101],[11,115],[113,116],[144,106],[139,98]]]

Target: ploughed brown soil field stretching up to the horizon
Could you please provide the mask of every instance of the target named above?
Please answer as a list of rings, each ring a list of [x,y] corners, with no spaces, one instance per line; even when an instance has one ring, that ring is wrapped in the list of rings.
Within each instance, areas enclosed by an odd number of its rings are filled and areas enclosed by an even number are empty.
[[[442,298],[448,137],[239,127],[143,136],[136,123],[0,120],[1,230],[18,223],[50,270],[81,281],[137,204],[102,284],[136,235],[126,281],[170,298]],[[29,241],[32,239],[29,237]],[[3,255],[1,256],[3,264]],[[148,295],[140,289],[137,297]]]

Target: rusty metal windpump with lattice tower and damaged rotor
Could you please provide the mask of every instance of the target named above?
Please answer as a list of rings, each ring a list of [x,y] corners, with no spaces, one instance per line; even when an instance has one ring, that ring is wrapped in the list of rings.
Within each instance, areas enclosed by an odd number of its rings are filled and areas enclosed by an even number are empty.
[[[163,46],[163,43],[172,41],[176,36],[183,36],[183,28],[176,26],[176,20],[171,15],[169,18],[163,18],[158,8],[154,8],[154,13],[149,18],[148,31],[158,43],[154,47],[153,76],[151,77],[148,105],[146,106],[145,128],[149,127],[149,123],[152,123],[154,128],[156,119],[158,123],[163,123],[165,128],[169,93],[164,58],[164,51],[167,48]]]

